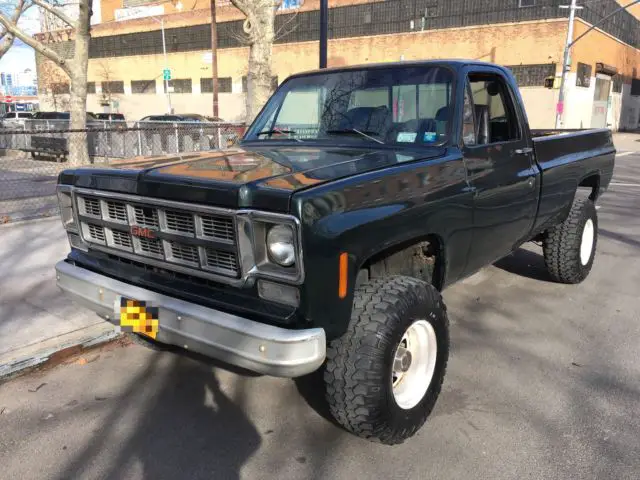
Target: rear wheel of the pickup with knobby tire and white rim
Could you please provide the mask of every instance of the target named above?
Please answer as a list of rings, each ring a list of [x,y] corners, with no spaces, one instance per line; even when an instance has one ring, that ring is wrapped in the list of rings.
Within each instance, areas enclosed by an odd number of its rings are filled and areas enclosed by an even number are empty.
[[[576,199],[564,222],[545,233],[547,270],[560,283],[582,282],[591,271],[598,242],[598,215],[588,198]]]

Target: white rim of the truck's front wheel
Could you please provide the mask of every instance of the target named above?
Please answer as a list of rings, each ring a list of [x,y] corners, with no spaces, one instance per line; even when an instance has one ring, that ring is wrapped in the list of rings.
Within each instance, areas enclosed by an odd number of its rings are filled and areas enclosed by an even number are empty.
[[[409,410],[424,398],[436,369],[437,353],[433,326],[426,320],[413,322],[396,347],[391,366],[393,397],[400,408]]]

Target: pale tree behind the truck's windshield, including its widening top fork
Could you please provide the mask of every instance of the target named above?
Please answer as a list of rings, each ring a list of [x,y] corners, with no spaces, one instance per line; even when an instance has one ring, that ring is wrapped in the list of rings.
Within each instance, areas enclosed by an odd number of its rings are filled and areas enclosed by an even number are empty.
[[[246,17],[242,24],[244,43],[249,45],[247,74],[246,122],[251,123],[269,99],[271,85],[271,53],[276,39],[276,11],[279,0],[231,0]]]

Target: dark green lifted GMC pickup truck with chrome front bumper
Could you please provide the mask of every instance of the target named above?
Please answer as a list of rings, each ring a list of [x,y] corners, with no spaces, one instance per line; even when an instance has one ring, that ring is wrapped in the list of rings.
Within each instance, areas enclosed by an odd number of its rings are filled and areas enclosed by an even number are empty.
[[[614,157],[608,130],[531,131],[497,65],[296,74],[231,149],[62,172],[57,283],[150,345],[323,369],[337,422],[397,444],[441,390],[441,291],[529,241],[583,281]]]

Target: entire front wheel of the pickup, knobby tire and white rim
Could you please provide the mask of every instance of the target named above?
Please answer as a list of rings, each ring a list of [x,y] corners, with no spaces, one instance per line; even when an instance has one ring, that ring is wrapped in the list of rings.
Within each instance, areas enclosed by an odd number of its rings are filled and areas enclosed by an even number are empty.
[[[446,307],[432,285],[399,276],[368,282],[355,292],[346,333],[327,350],[331,413],[358,436],[402,443],[433,410],[448,357]]]

